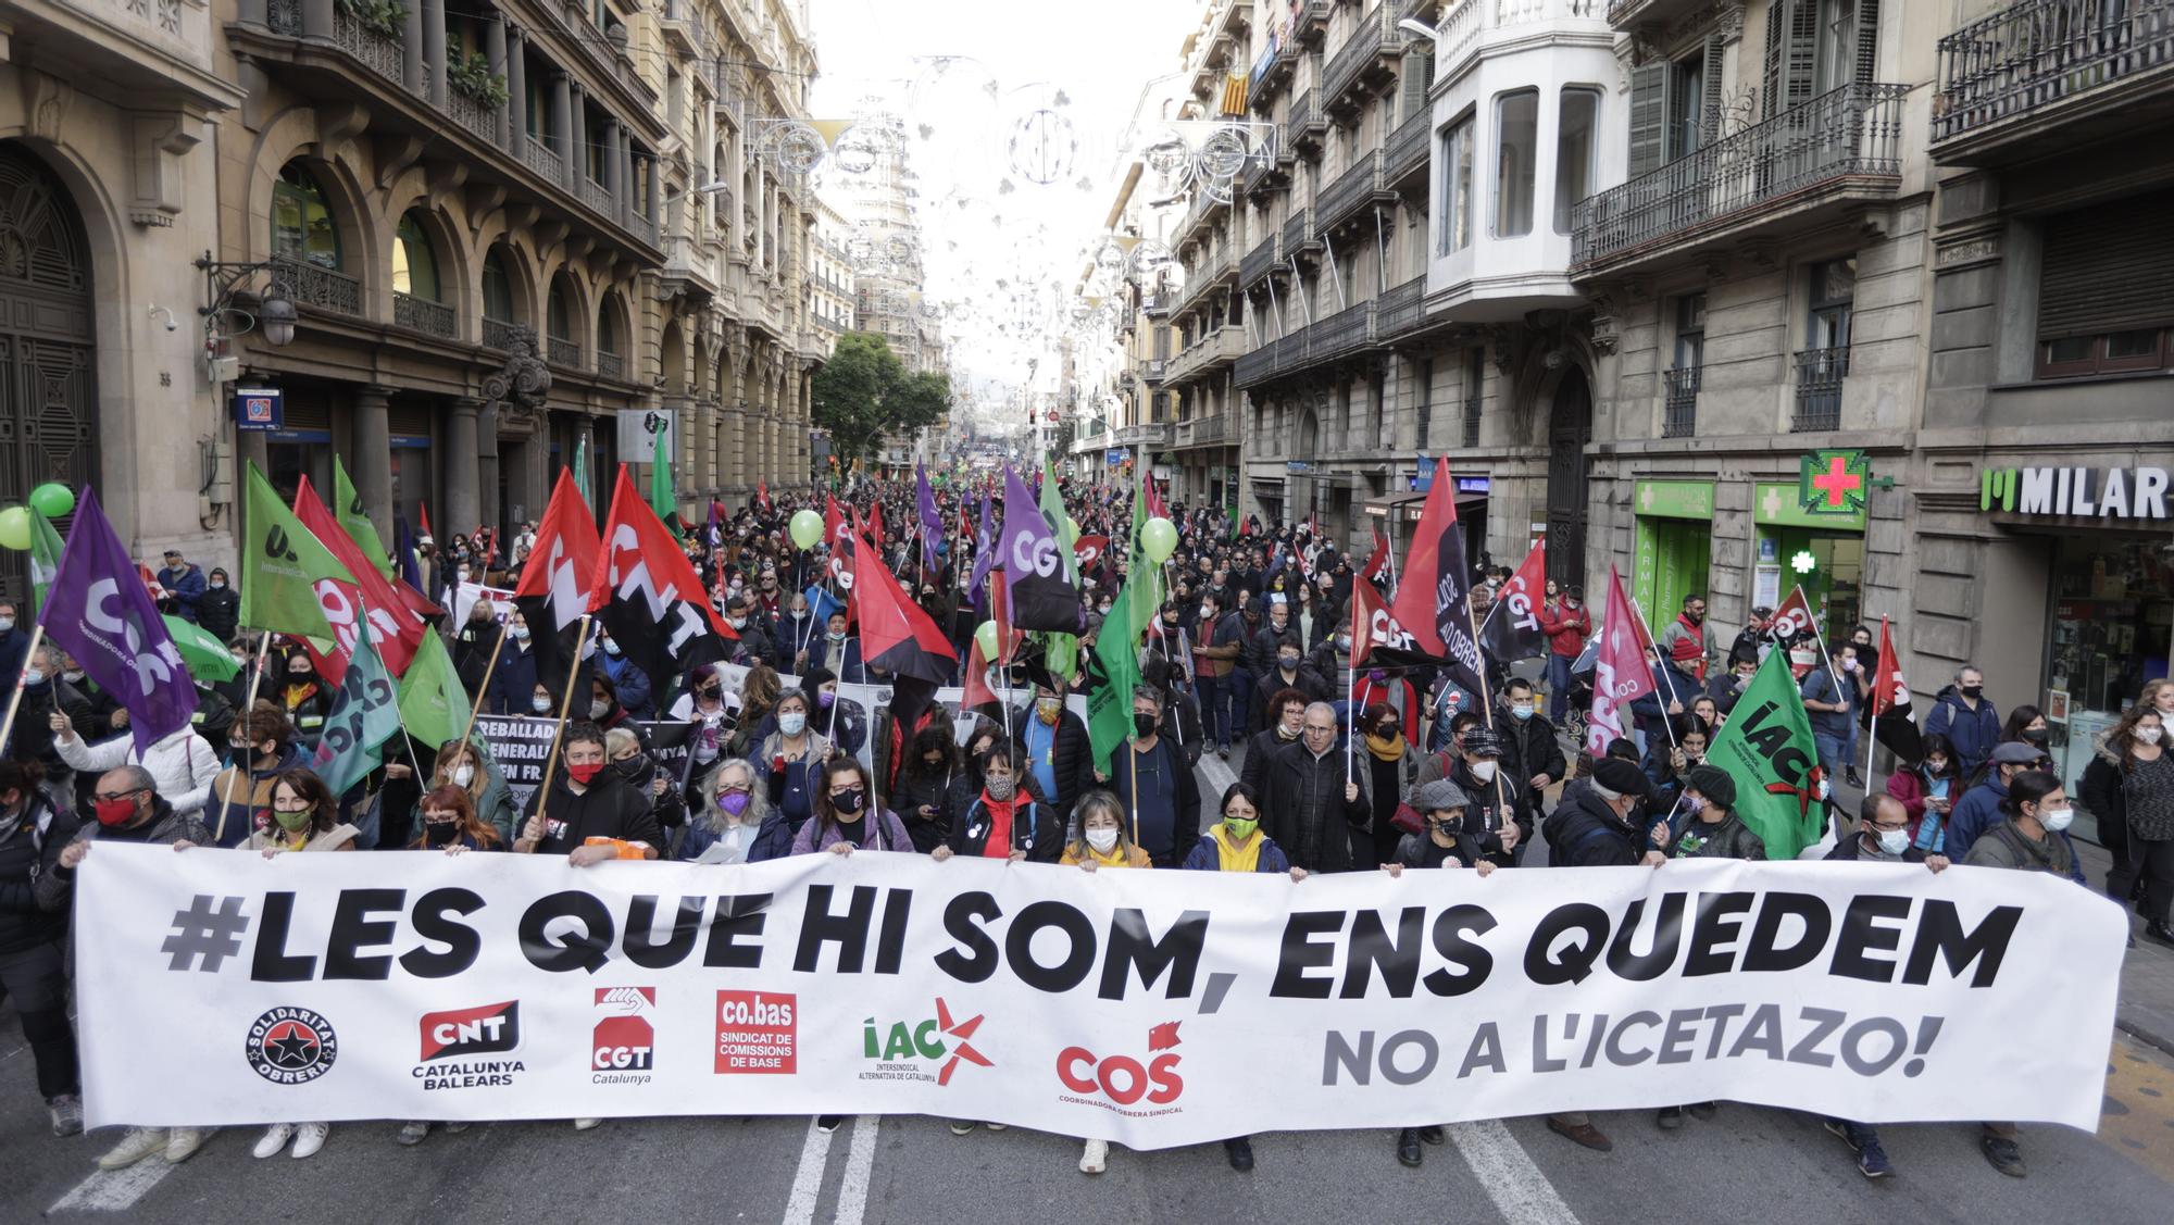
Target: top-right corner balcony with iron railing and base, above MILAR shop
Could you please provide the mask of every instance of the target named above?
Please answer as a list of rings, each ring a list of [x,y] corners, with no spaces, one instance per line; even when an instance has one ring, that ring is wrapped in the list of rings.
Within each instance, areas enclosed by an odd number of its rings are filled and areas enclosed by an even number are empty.
[[[2024,161],[2167,115],[2174,0],[2022,0],[1939,39],[1939,163]]]

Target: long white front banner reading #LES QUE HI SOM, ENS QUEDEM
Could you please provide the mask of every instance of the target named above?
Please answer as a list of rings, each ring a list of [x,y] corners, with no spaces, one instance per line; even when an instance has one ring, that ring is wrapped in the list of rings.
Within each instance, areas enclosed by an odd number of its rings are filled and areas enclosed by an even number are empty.
[[[2124,921],[2052,875],[1174,875],[98,843],[89,1125],[933,1114],[1157,1149],[1709,1099],[2098,1121]]]

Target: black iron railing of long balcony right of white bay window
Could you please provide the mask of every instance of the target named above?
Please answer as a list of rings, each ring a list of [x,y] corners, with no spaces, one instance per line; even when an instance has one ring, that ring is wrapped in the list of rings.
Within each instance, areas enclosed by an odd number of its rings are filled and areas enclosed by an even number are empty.
[[[1835,178],[1898,178],[1904,93],[1907,85],[1844,85],[1578,200],[1574,263],[1698,230]]]

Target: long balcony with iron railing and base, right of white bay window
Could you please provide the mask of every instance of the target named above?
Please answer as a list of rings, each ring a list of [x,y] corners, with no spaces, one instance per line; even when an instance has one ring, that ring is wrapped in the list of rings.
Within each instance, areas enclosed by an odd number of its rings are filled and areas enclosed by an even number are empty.
[[[1676,159],[1572,213],[1576,276],[1711,241],[1783,237],[1837,206],[1891,200],[1902,182],[1907,85],[1844,85]]]

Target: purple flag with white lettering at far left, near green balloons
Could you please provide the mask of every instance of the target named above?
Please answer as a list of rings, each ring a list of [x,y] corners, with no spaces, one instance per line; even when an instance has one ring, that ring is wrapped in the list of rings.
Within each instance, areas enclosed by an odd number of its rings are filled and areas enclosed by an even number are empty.
[[[128,708],[137,756],[189,728],[196,684],[165,632],[141,571],[89,487],[76,500],[76,526],[67,532],[61,569],[39,619],[46,636],[74,656],[98,689]]]

